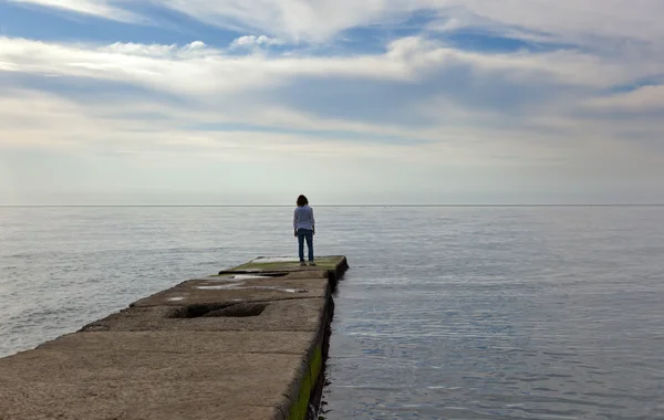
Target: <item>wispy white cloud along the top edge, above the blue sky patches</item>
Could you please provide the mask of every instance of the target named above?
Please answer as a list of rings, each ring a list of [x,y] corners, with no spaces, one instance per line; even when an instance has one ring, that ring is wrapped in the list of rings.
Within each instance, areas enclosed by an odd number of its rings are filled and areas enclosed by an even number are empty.
[[[499,33],[547,36],[559,42],[615,48],[664,43],[660,0],[10,0],[116,20],[135,15],[123,6],[170,8],[219,27],[262,32],[291,41],[325,41],[367,24],[391,24],[413,12],[429,12],[429,28],[484,28]]]

